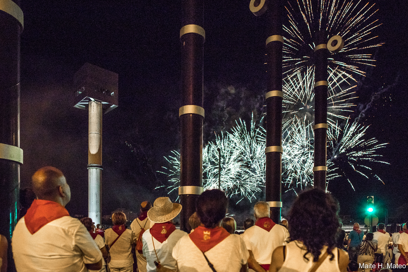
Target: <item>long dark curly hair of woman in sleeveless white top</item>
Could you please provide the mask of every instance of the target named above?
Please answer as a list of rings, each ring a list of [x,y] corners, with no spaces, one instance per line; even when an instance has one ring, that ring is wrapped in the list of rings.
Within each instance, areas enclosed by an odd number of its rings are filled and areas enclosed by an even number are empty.
[[[327,245],[330,260],[336,247],[336,232],[339,228],[339,203],[321,189],[302,192],[295,200],[288,214],[290,241],[302,241],[307,248],[304,258],[310,252],[313,261],[319,260],[323,245]]]

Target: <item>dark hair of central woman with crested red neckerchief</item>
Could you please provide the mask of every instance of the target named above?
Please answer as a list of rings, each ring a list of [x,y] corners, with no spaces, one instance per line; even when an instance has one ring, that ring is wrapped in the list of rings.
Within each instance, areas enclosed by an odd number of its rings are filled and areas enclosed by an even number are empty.
[[[201,223],[206,228],[215,228],[225,217],[228,199],[221,190],[206,190],[198,197],[195,207]]]

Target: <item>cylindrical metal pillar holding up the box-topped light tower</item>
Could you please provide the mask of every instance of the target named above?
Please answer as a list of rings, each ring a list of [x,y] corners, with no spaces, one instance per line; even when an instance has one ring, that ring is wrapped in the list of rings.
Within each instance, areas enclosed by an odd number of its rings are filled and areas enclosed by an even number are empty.
[[[101,223],[102,103],[89,101],[88,126],[88,217]]]

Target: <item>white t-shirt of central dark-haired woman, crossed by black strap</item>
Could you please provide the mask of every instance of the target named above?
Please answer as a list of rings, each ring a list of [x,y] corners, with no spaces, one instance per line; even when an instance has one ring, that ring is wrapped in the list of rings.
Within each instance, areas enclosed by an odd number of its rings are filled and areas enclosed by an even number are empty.
[[[205,252],[217,272],[239,272],[249,258],[245,243],[238,234],[230,234]],[[173,258],[179,272],[212,272],[200,249],[188,235],[183,236],[173,248]]]

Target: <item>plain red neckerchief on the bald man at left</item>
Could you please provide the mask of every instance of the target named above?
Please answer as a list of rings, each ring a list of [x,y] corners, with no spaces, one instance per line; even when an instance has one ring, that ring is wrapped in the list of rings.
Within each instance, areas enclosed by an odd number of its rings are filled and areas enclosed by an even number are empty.
[[[49,222],[64,216],[69,216],[69,212],[59,203],[34,199],[26,215],[24,215],[24,221],[28,231],[34,234]]]

